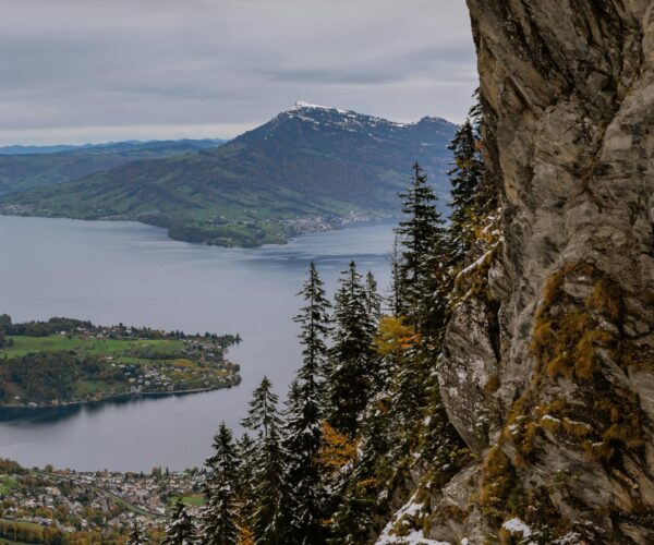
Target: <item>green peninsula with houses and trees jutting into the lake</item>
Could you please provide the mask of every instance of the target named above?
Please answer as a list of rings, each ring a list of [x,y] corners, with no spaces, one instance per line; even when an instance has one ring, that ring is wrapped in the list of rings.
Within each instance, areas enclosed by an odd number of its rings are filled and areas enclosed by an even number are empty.
[[[130,396],[230,388],[225,354],[239,335],[185,335],[71,318],[14,324],[0,315],[0,407],[61,407]]]

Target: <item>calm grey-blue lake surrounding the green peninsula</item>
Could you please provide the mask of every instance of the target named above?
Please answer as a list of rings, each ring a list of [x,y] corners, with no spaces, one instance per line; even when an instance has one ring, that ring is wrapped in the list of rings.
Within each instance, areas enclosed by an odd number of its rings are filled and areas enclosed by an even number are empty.
[[[0,416],[0,458],[77,471],[202,465],[225,421],[237,433],[267,375],[283,397],[300,364],[295,296],[311,261],[332,292],[350,259],[389,286],[392,223],[314,233],[286,245],[220,249],[133,222],[0,217],[0,313],[95,324],[241,334],[229,390]]]

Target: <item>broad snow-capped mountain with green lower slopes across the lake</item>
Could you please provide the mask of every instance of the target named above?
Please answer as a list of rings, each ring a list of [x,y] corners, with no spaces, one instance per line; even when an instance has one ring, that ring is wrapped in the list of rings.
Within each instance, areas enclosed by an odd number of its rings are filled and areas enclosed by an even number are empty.
[[[8,194],[0,210],[135,219],[167,227],[172,238],[210,244],[280,242],[301,229],[397,213],[397,193],[416,160],[447,195],[447,144],[455,130],[439,118],[402,124],[298,102],[222,146],[138,158]]]

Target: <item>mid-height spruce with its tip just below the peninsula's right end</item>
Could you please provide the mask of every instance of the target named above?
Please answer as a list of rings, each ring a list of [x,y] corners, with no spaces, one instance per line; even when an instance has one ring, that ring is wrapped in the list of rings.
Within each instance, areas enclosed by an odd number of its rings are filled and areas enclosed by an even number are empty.
[[[286,517],[289,492],[286,483],[286,452],[281,445],[281,419],[277,410],[278,396],[267,377],[254,390],[243,425],[257,434],[254,462],[254,506],[251,528],[254,541],[264,545],[281,545],[289,535]]]

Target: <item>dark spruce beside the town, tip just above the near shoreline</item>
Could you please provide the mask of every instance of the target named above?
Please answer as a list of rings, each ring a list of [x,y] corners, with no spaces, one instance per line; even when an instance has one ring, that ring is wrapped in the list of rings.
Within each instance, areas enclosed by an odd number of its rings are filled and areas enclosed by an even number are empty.
[[[205,545],[237,543],[235,523],[239,460],[231,431],[220,424],[214,437],[214,455],[207,459],[209,474],[205,482],[207,506],[203,511],[199,538]]]

